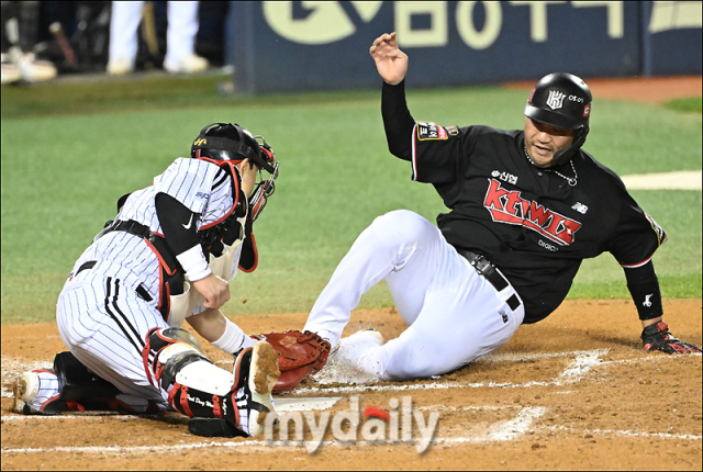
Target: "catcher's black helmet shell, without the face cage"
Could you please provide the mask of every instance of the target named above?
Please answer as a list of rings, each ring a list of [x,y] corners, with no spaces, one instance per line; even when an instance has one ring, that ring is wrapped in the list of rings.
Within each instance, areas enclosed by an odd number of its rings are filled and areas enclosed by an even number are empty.
[[[261,144],[257,142],[261,139]],[[258,167],[274,173],[274,153],[263,137],[253,136],[238,124],[212,123],[203,127],[193,141],[190,156],[238,162],[248,158]]]

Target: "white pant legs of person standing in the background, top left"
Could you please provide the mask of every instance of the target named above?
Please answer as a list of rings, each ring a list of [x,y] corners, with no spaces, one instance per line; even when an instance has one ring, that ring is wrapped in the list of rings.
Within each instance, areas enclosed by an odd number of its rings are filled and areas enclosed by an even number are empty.
[[[169,1],[166,4],[166,60],[178,63],[196,50],[198,34],[197,1]],[[143,1],[113,1],[110,20],[110,60],[134,60],[137,50],[137,27],[142,21]]]

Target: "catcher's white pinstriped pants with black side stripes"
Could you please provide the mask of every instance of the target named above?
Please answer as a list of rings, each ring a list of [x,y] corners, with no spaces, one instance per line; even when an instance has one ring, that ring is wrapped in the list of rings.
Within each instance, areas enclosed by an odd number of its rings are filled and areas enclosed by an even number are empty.
[[[168,407],[168,394],[149,383],[142,350],[150,328],[168,328],[156,301],[136,293],[140,279],[120,266],[98,262],[64,285],[56,322],[64,344],[88,369],[125,394],[120,400]]]

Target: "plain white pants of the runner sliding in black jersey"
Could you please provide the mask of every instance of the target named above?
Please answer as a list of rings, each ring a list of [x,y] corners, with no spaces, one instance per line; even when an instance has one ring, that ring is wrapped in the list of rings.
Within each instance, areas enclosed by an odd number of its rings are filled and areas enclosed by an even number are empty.
[[[379,216],[359,235],[304,329],[336,346],[361,295],[383,279],[409,327],[359,356],[364,370],[384,380],[457,369],[507,342],[525,315],[522,302],[515,311],[507,305],[518,296],[510,284],[498,292],[436,226],[400,210]]]

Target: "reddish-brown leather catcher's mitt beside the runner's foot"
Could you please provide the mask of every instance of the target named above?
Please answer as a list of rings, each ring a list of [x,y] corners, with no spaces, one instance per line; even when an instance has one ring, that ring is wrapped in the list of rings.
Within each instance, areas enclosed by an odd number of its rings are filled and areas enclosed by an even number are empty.
[[[278,352],[278,368],[281,375],[274,386],[274,393],[291,391],[312,371],[319,371],[327,362],[330,342],[311,331],[289,329],[283,333],[268,333],[253,336],[274,346]]]

